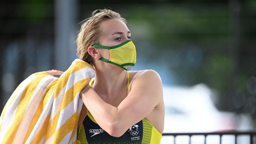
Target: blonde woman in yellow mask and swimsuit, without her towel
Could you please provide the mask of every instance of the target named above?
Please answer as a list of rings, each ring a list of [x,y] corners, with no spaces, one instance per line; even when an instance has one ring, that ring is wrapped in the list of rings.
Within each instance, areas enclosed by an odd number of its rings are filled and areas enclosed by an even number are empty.
[[[78,143],[159,144],[164,126],[163,90],[154,70],[130,71],[135,46],[126,20],[109,9],[93,12],[77,37],[80,59],[95,79],[80,92]]]

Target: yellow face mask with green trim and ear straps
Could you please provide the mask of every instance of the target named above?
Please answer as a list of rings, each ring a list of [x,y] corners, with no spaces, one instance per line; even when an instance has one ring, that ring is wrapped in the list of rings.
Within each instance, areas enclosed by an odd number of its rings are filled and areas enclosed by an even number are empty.
[[[125,70],[130,70],[136,63],[136,49],[131,40],[127,40],[116,46],[92,45],[95,48],[105,48],[110,52],[110,59],[100,58],[101,61],[112,63]]]

